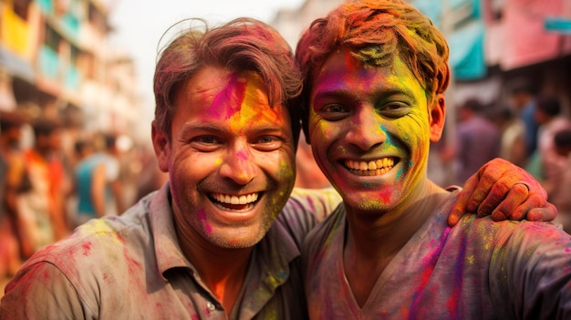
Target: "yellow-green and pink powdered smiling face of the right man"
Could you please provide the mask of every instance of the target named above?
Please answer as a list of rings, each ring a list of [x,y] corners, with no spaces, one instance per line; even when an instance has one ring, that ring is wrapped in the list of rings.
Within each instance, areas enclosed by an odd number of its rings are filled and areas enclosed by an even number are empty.
[[[348,49],[327,58],[311,91],[309,137],[348,212],[393,210],[426,185],[429,144],[444,125],[444,99],[432,100],[429,108],[398,57],[389,67],[365,67]]]

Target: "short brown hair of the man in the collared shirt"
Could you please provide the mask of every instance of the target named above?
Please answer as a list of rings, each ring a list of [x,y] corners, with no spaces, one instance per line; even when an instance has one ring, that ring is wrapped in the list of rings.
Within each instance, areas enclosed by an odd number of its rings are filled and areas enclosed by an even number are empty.
[[[224,67],[234,71],[254,71],[265,82],[270,106],[288,108],[295,141],[299,137],[299,97],[301,74],[290,46],[277,31],[252,18],[238,18],[209,29],[191,27],[177,36],[161,53],[154,75],[155,123],[171,138],[174,114],[172,98],[184,81],[202,67]]]

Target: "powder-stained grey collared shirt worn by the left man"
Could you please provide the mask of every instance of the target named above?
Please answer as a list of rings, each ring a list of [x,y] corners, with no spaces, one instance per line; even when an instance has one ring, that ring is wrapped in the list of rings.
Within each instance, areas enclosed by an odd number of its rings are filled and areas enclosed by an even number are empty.
[[[254,247],[232,319],[302,319],[300,247],[340,201],[335,191],[294,191]],[[30,258],[6,286],[2,319],[226,319],[184,257],[169,186],[119,217],[95,219]]]

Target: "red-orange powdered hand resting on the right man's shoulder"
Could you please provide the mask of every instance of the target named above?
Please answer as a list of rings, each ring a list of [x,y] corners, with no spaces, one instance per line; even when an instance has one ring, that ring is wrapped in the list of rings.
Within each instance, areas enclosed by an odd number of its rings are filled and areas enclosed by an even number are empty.
[[[497,158],[466,181],[448,216],[448,224],[455,225],[464,213],[478,217],[492,214],[494,221],[552,221],[557,209],[547,202],[545,189],[530,173]]]

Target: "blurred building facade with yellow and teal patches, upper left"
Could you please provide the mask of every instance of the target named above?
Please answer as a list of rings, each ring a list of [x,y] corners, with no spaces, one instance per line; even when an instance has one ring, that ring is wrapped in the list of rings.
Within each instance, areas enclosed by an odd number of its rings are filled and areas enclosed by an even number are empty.
[[[0,109],[83,131],[137,132],[137,75],[108,44],[110,4],[0,0]]]

